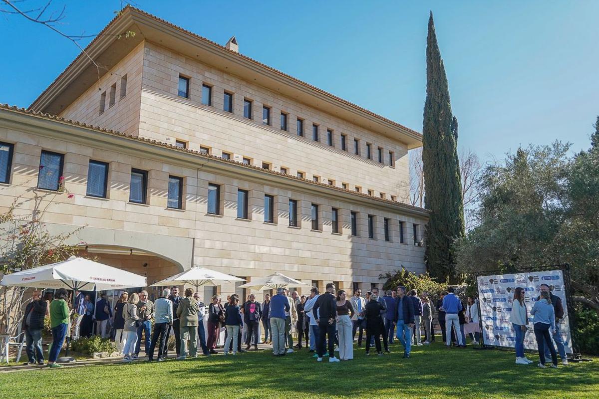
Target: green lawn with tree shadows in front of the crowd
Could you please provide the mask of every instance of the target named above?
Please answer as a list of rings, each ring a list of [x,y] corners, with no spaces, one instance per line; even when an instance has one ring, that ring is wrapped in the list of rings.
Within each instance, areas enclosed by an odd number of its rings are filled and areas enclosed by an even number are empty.
[[[0,398],[599,398],[599,360],[558,370],[514,364],[513,352],[417,346],[384,357],[317,363],[305,349],[186,361],[0,374]],[[529,358],[538,360],[529,355]],[[326,358],[325,358],[326,359]]]

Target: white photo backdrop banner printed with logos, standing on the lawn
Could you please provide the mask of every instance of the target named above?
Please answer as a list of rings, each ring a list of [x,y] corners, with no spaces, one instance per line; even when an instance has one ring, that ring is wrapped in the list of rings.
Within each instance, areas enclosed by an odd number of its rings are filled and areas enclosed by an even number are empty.
[[[559,321],[565,351],[572,351],[568,306],[565,296],[564,275],[561,270],[546,272],[515,273],[511,275],[480,276],[479,306],[482,323],[483,343],[485,345],[515,348],[516,334],[510,320],[514,291],[524,288],[525,304],[528,310],[528,330],[524,337],[524,348],[537,350],[537,341],[533,331],[533,316],[530,310],[538,300],[540,285],[552,287],[552,294],[558,296],[564,306],[564,318]]]

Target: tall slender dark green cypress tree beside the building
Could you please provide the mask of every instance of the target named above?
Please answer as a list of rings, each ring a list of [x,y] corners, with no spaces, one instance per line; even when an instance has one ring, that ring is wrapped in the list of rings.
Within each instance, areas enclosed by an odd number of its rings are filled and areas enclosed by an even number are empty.
[[[426,102],[422,126],[426,269],[455,282],[453,242],[464,236],[464,205],[458,160],[458,120],[451,111],[449,87],[431,16],[426,38]]]

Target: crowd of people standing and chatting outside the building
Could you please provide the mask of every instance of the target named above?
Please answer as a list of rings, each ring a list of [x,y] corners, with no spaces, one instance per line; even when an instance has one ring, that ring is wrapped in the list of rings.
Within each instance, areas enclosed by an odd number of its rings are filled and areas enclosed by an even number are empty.
[[[530,312],[539,347],[539,366],[545,367],[549,361],[551,367],[557,367],[557,354],[562,364],[567,364],[559,332],[559,319],[564,317],[564,310],[559,297],[550,293],[549,286],[541,285],[540,291],[539,300]],[[435,312],[445,345],[464,348],[467,336],[473,344],[480,342],[477,299],[469,296],[462,303],[452,287],[439,294],[435,305],[426,294],[419,296],[416,290],[408,291],[406,287],[388,290],[383,296],[378,288],[373,288],[364,297],[358,289],[349,298],[346,291],[337,291],[332,283],[326,285],[323,293],[312,287],[309,296],[279,288],[272,297],[266,294],[262,303],[256,301],[253,294],[244,303],[237,294],[232,294],[225,303],[215,295],[206,306],[199,293],[191,288],[184,290],[181,297],[179,287],[166,288],[155,302],[148,299],[145,290],[131,295],[123,293],[114,307],[104,294],[93,304],[88,295],[75,291],[73,310],[69,310],[67,299],[68,292],[62,288],[49,304],[41,298],[40,291],[33,293],[22,326],[26,332],[28,364],[44,364],[41,330],[44,317],[49,316],[53,342],[48,366],[60,367],[56,359],[70,326],[69,318],[75,312],[73,339],[92,334],[95,321],[98,336],[114,334],[116,350],[125,362],[140,357],[142,337],[149,361],[167,359],[171,331],[177,360],[196,357],[198,349],[202,355],[217,354],[221,328],[225,329],[223,353],[227,356],[252,347],[258,350],[258,344],[262,343],[271,344],[273,355],[277,357],[305,346],[308,352],[314,353],[316,361],[323,361],[325,357],[330,363],[349,361],[353,359],[357,334],[358,348],[364,346],[367,355],[373,347],[379,356],[391,352],[390,345],[397,339],[403,348],[403,357],[410,358],[412,345],[428,345],[434,341]],[[533,363],[524,354],[529,318],[522,288],[515,290],[511,319],[516,334],[516,364]],[[243,343],[245,348],[242,348]],[[158,354],[155,356],[156,346]]]

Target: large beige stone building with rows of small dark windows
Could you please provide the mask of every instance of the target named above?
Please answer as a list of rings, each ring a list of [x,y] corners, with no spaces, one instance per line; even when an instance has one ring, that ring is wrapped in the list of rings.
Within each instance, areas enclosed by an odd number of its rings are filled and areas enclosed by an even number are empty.
[[[149,284],[198,265],[352,291],[425,270],[428,213],[408,205],[422,136],[235,38],[126,7],[29,109],[0,107],[0,142],[2,209],[21,196],[31,211],[37,193],[49,229],[85,226],[83,253]]]

